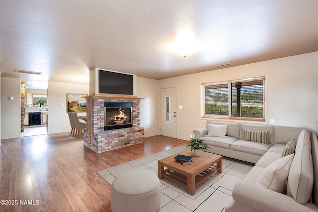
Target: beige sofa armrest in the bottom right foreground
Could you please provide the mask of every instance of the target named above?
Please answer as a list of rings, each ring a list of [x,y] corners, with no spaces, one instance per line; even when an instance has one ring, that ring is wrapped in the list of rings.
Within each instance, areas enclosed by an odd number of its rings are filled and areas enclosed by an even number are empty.
[[[293,198],[256,185],[238,182],[233,189],[233,204],[226,212],[313,212],[318,206],[307,203],[302,205]]]

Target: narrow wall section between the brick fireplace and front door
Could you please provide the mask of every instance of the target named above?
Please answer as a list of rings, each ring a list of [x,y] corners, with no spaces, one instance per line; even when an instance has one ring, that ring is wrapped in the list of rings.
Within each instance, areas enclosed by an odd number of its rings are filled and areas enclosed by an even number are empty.
[[[137,97],[140,100],[140,126],[145,137],[159,134],[159,81],[137,77]]]

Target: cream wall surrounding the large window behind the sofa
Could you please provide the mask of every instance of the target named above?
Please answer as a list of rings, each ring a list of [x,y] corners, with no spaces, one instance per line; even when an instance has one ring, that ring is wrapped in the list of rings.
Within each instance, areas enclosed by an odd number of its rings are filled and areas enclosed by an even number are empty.
[[[159,88],[177,85],[177,138],[188,140],[205,127],[201,83],[267,75],[266,120],[273,125],[305,127],[318,133],[318,52],[159,80]],[[264,123],[264,124],[267,124]]]

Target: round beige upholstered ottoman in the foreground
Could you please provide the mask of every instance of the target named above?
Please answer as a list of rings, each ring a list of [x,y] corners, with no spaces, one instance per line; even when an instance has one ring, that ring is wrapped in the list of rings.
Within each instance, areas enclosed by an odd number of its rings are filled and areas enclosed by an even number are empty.
[[[112,212],[158,212],[159,179],[150,171],[127,171],[114,179],[110,198]]]

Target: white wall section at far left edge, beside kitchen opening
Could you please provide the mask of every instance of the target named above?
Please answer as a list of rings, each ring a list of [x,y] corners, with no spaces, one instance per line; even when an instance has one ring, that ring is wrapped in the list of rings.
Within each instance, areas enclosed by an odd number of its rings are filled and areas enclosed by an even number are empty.
[[[21,133],[20,79],[1,77],[1,139],[18,138]],[[9,100],[13,97],[13,100]]]

